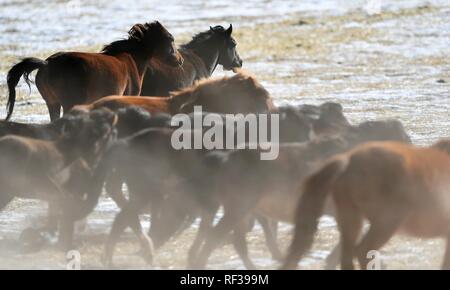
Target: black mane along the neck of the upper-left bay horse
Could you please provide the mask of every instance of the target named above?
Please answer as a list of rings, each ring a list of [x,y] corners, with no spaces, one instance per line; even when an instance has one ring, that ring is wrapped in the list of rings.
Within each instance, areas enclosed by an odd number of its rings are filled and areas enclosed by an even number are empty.
[[[135,24],[128,31],[127,39],[117,40],[105,45],[101,50],[101,53],[114,56],[124,52],[135,52],[143,45],[145,37],[153,29],[161,29],[161,27],[162,26],[158,21],[145,24]]]

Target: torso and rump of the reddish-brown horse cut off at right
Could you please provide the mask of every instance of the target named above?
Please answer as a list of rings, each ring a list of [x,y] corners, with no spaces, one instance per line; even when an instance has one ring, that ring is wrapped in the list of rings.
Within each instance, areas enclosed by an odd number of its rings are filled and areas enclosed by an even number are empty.
[[[404,219],[401,230],[433,237],[450,230],[450,156],[435,148],[371,142],[345,154],[337,203],[351,203],[369,219]],[[382,216],[380,215],[382,213]]]

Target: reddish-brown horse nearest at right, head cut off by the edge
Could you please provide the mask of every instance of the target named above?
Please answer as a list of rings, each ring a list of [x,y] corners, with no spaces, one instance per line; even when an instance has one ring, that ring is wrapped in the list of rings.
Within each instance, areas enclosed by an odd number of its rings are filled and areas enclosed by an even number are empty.
[[[428,148],[368,143],[334,157],[304,183],[284,268],[295,268],[311,247],[324,201],[331,195],[341,233],[342,269],[353,269],[355,256],[366,269],[367,253],[398,232],[446,238],[442,268],[450,269],[449,189],[449,140]],[[370,229],[358,242],[364,220]]]

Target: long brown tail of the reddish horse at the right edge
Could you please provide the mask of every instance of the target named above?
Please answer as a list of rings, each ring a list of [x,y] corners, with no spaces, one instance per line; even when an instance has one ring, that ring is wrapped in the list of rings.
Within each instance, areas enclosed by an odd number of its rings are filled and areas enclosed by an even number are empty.
[[[326,199],[347,165],[348,159],[334,158],[305,180],[295,216],[294,238],[282,269],[295,269],[298,261],[311,248]]]

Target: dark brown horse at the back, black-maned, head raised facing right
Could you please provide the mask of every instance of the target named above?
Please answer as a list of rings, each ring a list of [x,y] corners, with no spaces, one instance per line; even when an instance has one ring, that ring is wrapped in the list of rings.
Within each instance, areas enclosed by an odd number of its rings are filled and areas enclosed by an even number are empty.
[[[158,57],[152,58],[142,83],[141,95],[169,96],[170,92],[209,78],[218,65],[222,65],[225,70],[242,67],[232,32],[231,25],[228,29],[216,26],[195,35],[178,49],[184,59],[181,67],[167,65]]]

